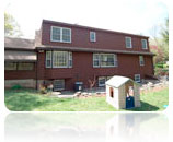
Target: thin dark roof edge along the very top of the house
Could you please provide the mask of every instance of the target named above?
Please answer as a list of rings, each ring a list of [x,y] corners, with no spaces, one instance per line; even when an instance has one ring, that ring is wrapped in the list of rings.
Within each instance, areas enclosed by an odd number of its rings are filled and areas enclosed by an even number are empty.
[[[96,27],[89,27],[89,26],[83,26],[83,25],[78,25],[78,24],[69,24],[69,23],[64,23],[64,22],[56,22],[56,21],[50,21],[50,20],[43,20],[43,23],[62,24],[65,26],[86,28],[86,29],[91,29],[91,31],[102,31],[102,32],[114,33],[114,34],[119,34],[119,35],[127,35],[127,36],[129,35],[129,36],[138,36],[138,37],[149,38],[149,36],[143,36],[143,35],[137,35],[137,34],[130,34],[130,33],[124,33],[124,32],[115,32],[115,31],[109,31],[109,29],[102,29],[102,28],[96,28]]]

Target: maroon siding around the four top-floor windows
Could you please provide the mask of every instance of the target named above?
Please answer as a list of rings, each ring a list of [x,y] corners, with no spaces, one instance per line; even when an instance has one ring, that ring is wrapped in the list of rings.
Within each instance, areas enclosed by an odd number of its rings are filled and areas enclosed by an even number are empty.
[[[60,26],[71,28],[71,43],[58,43],[50,42],[50,27]],[[96,42],[90,42],[90,32],[96,32]],[[125,37],[130,36],[132,40],[132,48],[126,48]],[[58,23],[43,22],[42,25],[42,44],[51,46],[69,46],[69,47],[82,47],[82,48],[97,48],[97,49],[114,49],[114,50],[130,50],[130,51],[149,51],[141,48],[141,39],[148,39],[148,37],[120,34],[115,32],[107,32],[102,29],[91,29],[78,26],[69,26]],[[148,43],[149,47],[149,43]]]

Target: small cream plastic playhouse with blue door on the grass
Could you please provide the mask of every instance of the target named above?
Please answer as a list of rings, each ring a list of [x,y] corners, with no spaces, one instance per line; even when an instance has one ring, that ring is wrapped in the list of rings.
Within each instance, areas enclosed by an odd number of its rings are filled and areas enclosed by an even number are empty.
[[[106,81],[106,102],[116,109],[140,107],[139,84],[126,76],[111,78]]]

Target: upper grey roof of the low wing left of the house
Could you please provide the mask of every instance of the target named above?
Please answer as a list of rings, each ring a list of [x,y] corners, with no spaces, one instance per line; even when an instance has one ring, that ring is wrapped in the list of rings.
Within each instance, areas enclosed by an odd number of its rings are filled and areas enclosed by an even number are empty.
[[[34,50],[34,39],[4,37],[4,49]]]

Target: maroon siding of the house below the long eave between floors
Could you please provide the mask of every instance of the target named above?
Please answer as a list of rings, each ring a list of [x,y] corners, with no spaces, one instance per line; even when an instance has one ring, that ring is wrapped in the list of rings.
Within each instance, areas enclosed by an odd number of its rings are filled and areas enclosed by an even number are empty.
[[[153,74],[152,57],[145,56],[145,66],[139,66],[139,56],[117,55],[118,67],[93,68],[93,54],[72,52],[72,68],[45,68],[45,52],[38,54],[38,80],[66,80],[66,90],[72,90],[76,81],[84,83],[89,87],[89,79],[96,76],[124,75],[134,79],[135,74],[140,74],[141,79],[146,74]]]

